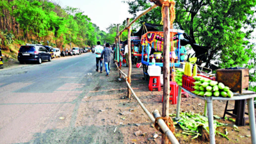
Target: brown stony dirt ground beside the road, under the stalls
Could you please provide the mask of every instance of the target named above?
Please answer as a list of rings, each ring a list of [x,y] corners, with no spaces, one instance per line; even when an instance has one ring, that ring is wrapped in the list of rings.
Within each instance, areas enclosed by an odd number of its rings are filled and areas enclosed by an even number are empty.
[[[122,68],[122,70],[127,74],[127,67]],[[124,138],[121,143],[161,143],[161,133],[152,127],[152,122],[150,122],[138,102],[135,99],[124,99],[127,95],[127,85],[124,79],[118,81],[118,77],[118,71],[113,70],[113,66],[111,76],[108,79],[100,77],[102,83],[108,81],[111,87],[116,88],[106,90],[106,87],[99,85],[90,91],[90,94],[84,97],[80,106],[76,126],[97,125],[101,126],[102,129],[109,129],[109,134],[116,135],[120,140]],[[142,68],[136,68],[135,65],[132,65],[131,77],[132,88],[148,111],[153,112],[154,109],[158,109],[161,113],[163,89],[161,92],[148,91],[148,81],[143,80],[143,70]],[[225,101],[215,100],[213,103],[214,115],[222,117],[225,104]],[[169,107],[170,113],[176,113],[176,104],[170,104]],[[229,102],[228,109],[231,108],[234,108],[234,102]],[[190,95],[188,98],[182,97],[181,111],[193,111],[202,114],[204,113],[204,100]],[[122,113],[127,113],[127,115],[122,115]],[[230,117],[228,116],[228,118]],[[216,143],[251,143],[250,138],[245,136],[250,135],[248,122],[246,122],[246,126],[239,127],[239,132],[232,128],[233,122],[223,119],[218,120],[218,122],[228,124],[227,130],[230,141],[217,135]],[[137,131],[140,131],[140,136],[134,134]],[[218,127],[218,131],[224,133],[223,127]],[[153,138],[154,132],[159,135],[156,139]],[[176,126],[175,136],[180,143],[209,143],[208,141],[191,140],[193,136],[182,134],[182,129],[179,126]],[[108,142],[111,143],[111,140],[106,141],[106,143]]]

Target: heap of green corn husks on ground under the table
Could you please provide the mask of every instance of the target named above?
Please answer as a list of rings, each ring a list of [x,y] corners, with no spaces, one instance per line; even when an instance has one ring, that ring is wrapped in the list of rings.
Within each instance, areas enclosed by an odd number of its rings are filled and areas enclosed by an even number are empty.
[[[175,116],[170,114],[170,116]],[[183,129],[182,134],[188,134],[191,136],[194,136],[191,139],[196,139],[199,136],[205,135],[203,131],[207,132],[207,135],[209,135],[209,125],[208,125],[208,118],[205,116],[202,116],[198,113],[191,113],[191,112],[185,112],[185,113],[180,113],[180,120],[177,122],[173,122],[174,125],[179,125],[181,129]],[[226,134],[223,134],[219,131],[216,131],[217,127],[223,127],[226,126],[227,124],[220,123],[216,120],[213,122],[213,127],[215,129],[215,134],[218,133],[224,138],[229,138],[227,137],[227,129],[226,129]]]

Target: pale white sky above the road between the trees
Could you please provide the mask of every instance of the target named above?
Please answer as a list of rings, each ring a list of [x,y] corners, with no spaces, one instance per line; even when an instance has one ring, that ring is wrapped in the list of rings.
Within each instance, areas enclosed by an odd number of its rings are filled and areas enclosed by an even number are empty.
[[[106,28],[110,24],[122,24],[127,18],[132,18],[128,12],[129,5],[122,1],[124,0],[59,0],[59,3],[61,7],[80,8],[93,24],[107,32]]]

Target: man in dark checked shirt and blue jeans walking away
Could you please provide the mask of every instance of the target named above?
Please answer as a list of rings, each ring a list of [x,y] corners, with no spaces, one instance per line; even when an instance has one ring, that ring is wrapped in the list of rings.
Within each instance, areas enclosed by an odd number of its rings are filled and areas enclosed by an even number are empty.
[[[101,60],[103,59],[103,56],[104,56],[104,63],[105,63],[105,68],[107,72],[106,76],[109,76],[111,53],[112,53],[112,50],[110,49],[109,44],[107,43],[106,48],[101,52],[101,56],[100,56]]]

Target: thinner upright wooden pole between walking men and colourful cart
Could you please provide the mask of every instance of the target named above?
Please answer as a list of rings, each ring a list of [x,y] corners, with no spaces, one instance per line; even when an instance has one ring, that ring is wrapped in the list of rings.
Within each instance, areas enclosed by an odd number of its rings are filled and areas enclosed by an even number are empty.
[[[130,19],[127,18],[127,26],[129,25]],[[131,73],[132,73],[132,54],[131,54],[131,28],[128,28],[128,65],[129,65],[129,70],[128,70],[128,83],[131,85]],[[127,97],[131,99],[131,90],[127,86]]]

